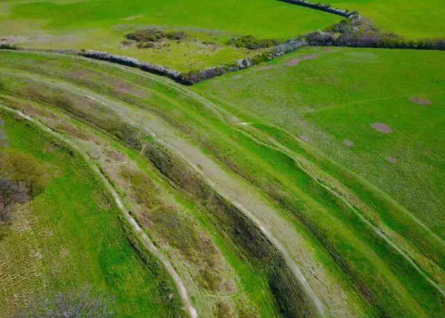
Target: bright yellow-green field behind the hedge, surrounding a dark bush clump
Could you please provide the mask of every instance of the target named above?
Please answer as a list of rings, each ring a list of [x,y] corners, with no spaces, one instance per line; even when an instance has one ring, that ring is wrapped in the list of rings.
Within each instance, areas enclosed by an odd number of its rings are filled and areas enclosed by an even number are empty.
[[[40,49],[98,49],[190,70],[250,54],[225,42],[234,35],[291,38],[340,18],[276,0],[6,1],[0,3],[0,38]],[[188,33],[157,49],[122,45],[135,29]]]

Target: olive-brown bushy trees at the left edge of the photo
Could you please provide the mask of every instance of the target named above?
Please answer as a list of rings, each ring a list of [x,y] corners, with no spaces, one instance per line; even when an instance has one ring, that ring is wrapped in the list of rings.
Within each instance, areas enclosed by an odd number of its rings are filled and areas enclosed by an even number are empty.
[[[16,203],[38,195],[46,182],[43,166],[30,154],[0,152],[0,221],[6,221]]]

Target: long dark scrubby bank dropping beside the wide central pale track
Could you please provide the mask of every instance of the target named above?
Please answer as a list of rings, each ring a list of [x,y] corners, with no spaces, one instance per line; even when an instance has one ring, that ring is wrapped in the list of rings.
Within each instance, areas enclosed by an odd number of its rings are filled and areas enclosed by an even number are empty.
[[[163,175],[175,182],[209,212],[223,237],[234,241],[247,262],[266,273],[277,307],[283,317],[314,317],[312,301],[286,266],[282,255],[250,219],[213,191],[202,178],[180,159],[152,143],[145,155]],[[287,289],[274,287],[286,285]],[[282,294],[285,292],[286,294]]]

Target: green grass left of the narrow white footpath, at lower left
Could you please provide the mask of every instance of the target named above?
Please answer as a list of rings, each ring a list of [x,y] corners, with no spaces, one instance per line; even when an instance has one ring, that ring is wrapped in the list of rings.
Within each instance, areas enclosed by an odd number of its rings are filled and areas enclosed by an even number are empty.
[[[0,317],[11,317],[33,297],[86,284],[113,299],[115,317],[178,317],[181,303],[170,299],[170,278],[152,256],[133,248],[129,225],[83,159],[32,125],[0,116],[2,144],[35,157],[48,180],[1,224]]]

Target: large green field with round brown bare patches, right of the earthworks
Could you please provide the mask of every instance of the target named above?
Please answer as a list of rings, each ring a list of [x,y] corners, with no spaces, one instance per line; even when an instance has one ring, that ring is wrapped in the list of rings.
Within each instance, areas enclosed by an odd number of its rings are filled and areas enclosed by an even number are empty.
[[[317,145],[445,237],[444,74],[439,51],[314,48],[193,88]]]

